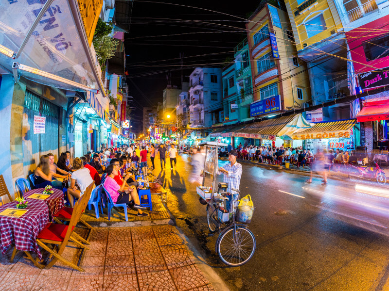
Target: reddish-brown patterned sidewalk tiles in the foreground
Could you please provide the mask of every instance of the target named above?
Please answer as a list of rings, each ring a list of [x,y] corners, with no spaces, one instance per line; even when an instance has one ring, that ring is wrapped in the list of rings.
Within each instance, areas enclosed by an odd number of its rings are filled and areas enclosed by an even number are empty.
[[[77,229],[80,235],[88,231]],[[174,226],[95,228],[89,235],[79,272],[56,263],[40,270],[12,249],[1,257],[0,291],[213,291]],[[80,251],[67,247],[67,259],[77,263]]]

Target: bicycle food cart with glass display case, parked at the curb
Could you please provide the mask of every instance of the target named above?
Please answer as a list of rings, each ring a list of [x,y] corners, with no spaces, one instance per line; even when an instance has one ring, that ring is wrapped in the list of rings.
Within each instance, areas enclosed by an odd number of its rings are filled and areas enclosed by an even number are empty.
[[[256,242],[254,235],[248,229],[249,221],[242,223],[235,220],[240,196],[239,190],[231,189],[239,194],[238,201],[234,202],[231,212],[228,210],[230,210],[232,194],[227,192],[228,184],[218,183],[216,191],[219,168],[218,150],[219,147],[227,146],[227,144],[204,142],[200,143],[199,146],[205,147],[205,161],[202,185],[196,187],[196,192],[203,199],[200,199],[200,202],[207,205],[207,223],[210,231],[212,233],[219,232],[215,245],[216,253],[225,264],[241,266],[254,255]],[[212,175],[211,186],[205,186],[206,174]],[[221,228],[223,230],[220,232]]]

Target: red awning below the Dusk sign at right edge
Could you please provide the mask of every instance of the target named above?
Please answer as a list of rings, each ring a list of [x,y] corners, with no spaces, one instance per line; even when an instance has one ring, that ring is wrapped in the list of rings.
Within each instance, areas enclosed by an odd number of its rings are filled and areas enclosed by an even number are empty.
[[[389,119],[388,100],[365,102],[356,119],[358,122]]]

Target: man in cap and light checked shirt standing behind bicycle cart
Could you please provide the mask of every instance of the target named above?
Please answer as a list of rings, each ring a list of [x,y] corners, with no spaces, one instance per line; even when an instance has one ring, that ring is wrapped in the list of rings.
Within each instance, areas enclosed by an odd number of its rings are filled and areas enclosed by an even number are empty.
[[[239,190],[240,178],[242,177],[242,165],[236,162],[238,153],[235,150],[231,150],[228,153],[229,163],[225,164],[222,168],[219,168],[218,175],[223,174],[223,182],[228,183],[227,192],[232,193],[232,199],[230,201],[230,211],[233,211],[233,202],[237,201],[239,194],[232,189]]]

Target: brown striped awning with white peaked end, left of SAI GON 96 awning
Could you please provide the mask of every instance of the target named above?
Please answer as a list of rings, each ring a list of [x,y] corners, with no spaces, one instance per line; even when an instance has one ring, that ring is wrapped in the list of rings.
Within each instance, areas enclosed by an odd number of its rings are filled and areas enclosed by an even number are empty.
[[[275,140],[277,136],[285,140],[291,140],[296,129],[310,128],[311,124],[301,114],[282,116],[249,124],[238,130],[235,136]]]

